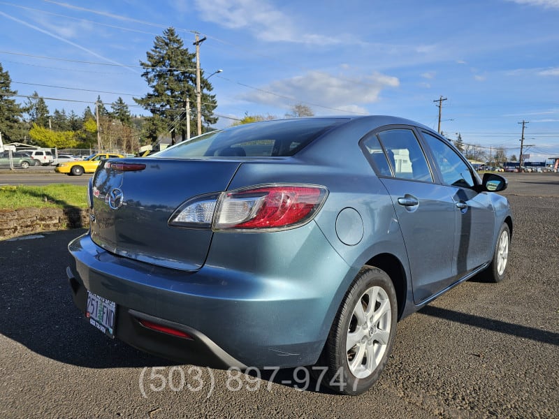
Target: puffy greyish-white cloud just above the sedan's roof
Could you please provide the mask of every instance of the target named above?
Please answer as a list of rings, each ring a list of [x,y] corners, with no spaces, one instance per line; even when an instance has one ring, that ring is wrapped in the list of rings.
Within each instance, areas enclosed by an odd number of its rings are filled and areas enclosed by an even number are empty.
[[[386,87],[398,87],[400,80],[373,73],[361,78],[339,78],[321,71],[310,71],[286,80],[277,80],[242,99],[279,108],[305,103],[317,113],[368,113],[363,105],[375,103]]]

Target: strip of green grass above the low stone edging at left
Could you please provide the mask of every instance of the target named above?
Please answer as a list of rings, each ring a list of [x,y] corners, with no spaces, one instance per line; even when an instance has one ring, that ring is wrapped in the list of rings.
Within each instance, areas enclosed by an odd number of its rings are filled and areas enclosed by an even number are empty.
[[[87,186],[0,186],[0,210],[29,207],[87,208]]]

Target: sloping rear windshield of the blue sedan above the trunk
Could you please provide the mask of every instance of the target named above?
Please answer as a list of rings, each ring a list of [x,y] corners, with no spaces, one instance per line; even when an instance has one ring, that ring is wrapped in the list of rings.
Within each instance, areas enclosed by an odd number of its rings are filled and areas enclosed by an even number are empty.
[[[157,153],[156,157],[293,156],[346,119],[282,119],[212,131]]]

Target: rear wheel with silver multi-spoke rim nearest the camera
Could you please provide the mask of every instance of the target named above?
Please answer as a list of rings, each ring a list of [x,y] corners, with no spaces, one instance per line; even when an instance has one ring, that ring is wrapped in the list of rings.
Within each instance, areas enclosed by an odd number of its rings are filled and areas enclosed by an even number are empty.
[[[317,365],[322,385],[344,395],[368,390],[382,373],[396,334],[398,302],[388,274],[366,266],[336,314]]]

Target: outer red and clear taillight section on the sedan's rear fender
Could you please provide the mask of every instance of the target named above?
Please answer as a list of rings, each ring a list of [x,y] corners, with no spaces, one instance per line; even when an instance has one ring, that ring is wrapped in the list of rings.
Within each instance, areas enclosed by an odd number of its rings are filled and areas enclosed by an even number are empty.
[[[224,193],[214,228],[291,228],[309,221],[326,198],[322,186],[263,186]]]

